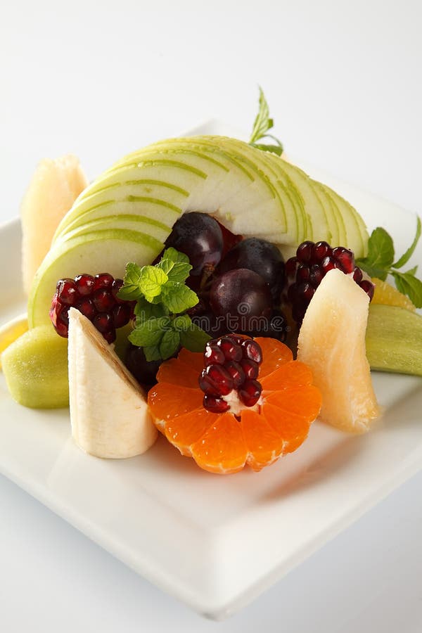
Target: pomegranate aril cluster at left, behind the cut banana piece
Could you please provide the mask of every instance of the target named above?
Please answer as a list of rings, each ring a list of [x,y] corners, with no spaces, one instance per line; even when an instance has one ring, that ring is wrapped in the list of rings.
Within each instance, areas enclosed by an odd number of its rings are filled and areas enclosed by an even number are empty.
[[[122,279],[108,273],[82,274],[75,279],[60,279],[53,296],[50,319],[56,332],[68,337],[69,309],[74,307],[92,321],[108,343],[116,338],[116,329],[127,325],[134,315],[134,301],[117,297]]]

